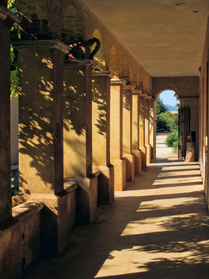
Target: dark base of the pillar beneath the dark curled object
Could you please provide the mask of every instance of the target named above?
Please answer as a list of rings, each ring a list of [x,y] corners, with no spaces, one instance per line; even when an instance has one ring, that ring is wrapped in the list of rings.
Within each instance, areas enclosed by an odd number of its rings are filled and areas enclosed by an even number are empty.
[[[100,174],[100,172],[99,172]],[[77,222],[91,224],[97,217],[98,176],[77,177]]]

